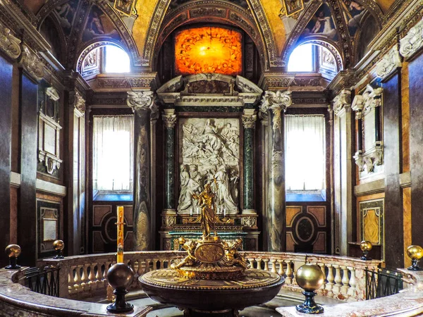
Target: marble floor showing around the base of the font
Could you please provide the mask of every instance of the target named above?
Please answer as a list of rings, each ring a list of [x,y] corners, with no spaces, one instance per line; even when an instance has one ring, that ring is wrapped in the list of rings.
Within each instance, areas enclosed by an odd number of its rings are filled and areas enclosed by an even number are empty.
[[[159,304],[154,302],[152,299],[147,297],[147,295],[142,292],[130,292],[127,296],[127,301],[134,304],[135,306],[150,306],[153,308],[147,314],[147,317],[183,317],[183,312],[177,309],[174,306],[166,306],[164,304]],[[317,296],[317,304],[324,306],[340,304],[341,301],[337,299],[331,299],[326,297]],[[106,303],[104,299],[90,299],[90,302],[101,302]],[[270,302],[259,306],[247,307],[243,311],[240,311],[240,317],[276,317],[280,316],[276,311],[276,307],[286,307],[286,306],[295,306],[304,301],[304,296],[298,292],[290,292],[286,290],[281,290],[279,294],[272,299]]]

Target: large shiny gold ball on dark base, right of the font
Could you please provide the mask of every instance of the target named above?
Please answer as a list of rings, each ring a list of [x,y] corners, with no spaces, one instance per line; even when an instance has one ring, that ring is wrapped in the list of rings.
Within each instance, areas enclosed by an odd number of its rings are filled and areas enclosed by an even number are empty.
[[[323,307],[314,302],[314,296],[316,296],[314,291],[319,290],[324,283],[321,268],[311,263],[300,266],[295,274],[295,280],[298,286],[304,290],[302,294],[305,296],[305,302],[295,307],[297,311],[300,313],[323,313]]]

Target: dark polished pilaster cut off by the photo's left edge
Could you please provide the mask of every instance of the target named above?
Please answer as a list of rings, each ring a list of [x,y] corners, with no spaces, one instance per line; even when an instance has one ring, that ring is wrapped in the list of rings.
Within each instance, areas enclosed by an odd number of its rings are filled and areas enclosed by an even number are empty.
[[[0,247],[10,241],[11,221],[11,109],[12,109],[12,72],[13,67],[0,56]],[[4,256],[0,258],[3,266]]]

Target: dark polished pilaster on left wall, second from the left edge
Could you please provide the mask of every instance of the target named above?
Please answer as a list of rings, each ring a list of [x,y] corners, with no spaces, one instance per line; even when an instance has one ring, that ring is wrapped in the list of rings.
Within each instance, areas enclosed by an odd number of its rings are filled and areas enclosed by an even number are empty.
[[[35,265],[37,260],[37,91],[25,73],[20,77],[20,197],[18,244],[20,263]]]

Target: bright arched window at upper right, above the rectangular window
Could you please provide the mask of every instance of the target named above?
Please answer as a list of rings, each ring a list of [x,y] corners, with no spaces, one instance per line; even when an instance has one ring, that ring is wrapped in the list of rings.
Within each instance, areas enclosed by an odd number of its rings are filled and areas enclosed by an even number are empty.
[[[289,56],[288,72],[321,73],[322,77],[332,80],[341,70],[333,51],[329,51],[323,44],[300,44]]]

